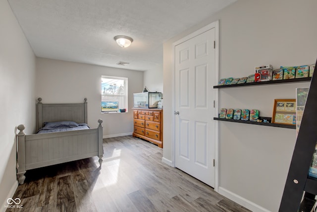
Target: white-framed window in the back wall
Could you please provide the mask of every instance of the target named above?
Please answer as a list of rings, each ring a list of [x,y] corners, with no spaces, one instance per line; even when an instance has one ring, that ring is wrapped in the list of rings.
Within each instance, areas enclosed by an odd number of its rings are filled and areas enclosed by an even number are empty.
[[[128,78],[102,76],[101,78],[101,112],[128,112]]]

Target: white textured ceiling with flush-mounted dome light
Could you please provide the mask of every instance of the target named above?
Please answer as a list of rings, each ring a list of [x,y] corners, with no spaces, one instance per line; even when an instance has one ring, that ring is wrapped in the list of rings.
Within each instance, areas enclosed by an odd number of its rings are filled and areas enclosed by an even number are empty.
[[[234,1],[8,0],[37,57],[139,71],[162,64],[164,41]],[[134,41],[121,48],[116,35]]]

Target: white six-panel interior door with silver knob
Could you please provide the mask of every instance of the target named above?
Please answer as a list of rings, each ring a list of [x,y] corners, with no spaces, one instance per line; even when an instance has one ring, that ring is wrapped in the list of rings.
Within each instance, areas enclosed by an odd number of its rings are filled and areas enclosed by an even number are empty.
[[[215,29],[175,46],[175,166],[214,187]]]

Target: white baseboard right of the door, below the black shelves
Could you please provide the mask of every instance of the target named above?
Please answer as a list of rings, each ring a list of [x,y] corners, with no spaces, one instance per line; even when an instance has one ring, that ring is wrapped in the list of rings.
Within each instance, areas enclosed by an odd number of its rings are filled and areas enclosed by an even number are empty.
[[[222,187],[218,187],[218,193],[225,196],[226,198],[240,204],[241,206],[253,211],[253,212],[270,212],[267,209],[264,209],[263,207],[235,194],[231,191],[228,191]]]

